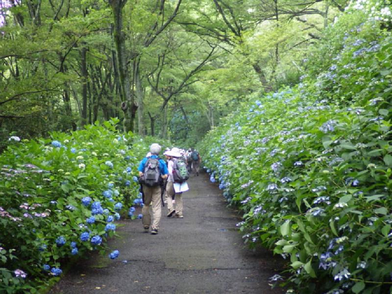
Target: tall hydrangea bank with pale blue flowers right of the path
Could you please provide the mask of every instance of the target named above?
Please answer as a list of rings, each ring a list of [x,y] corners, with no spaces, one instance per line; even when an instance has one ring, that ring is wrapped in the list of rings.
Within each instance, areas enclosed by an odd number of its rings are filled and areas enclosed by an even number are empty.
[[[288,293],[392,291],[392,37],[349,11],[313,53],[331,58],[242,105],[198,146],[243,211],[245,242],[288,261]]]

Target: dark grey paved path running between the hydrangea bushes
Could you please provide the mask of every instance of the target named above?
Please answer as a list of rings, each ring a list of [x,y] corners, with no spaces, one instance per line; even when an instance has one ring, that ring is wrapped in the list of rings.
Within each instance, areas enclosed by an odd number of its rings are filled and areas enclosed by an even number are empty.
[[[284,293],[268,283],[280,258],[243,245],[238,215],[226,208],[206,174],[192,176],[188,183],[184,219],[167,218],[165,207],[158,235],[144,233],[141,220],[120,221],[121,237],[109,242],[120,251],[119,258],[92,254],[74,265],[50,294]]]

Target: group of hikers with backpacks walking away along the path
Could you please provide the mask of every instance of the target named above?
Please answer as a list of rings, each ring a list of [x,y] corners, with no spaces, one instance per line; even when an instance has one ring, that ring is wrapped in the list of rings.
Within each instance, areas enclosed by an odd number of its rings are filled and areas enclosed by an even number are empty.
[[[162,205],[167,204],[167,217],[183,218],[182,193],[189,190],[187,180],[192,171],[199,175],[200,155],[190,148],[188,151],[167,148],[163,160],[159,157],[162,147],[152,144],[150,152],[140,162],[139,183],[143,195],[142,223],[146,231],[158,234]],[[163,198],[165,196],[165,198]]]

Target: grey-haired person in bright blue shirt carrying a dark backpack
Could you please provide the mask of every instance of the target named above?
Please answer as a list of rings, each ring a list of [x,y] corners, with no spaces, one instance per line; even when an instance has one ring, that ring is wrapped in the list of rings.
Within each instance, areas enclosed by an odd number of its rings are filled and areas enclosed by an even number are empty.
[[[168,168],[165,161],[159,158],[161,146],[159,144],[151,144],[151,156],[143,158],[140,162],[138,171],[140,175],[140,182],[143,185],[144,206],[142,208],[142,223],[144,229],[147,231],[151,225],[151,234],[158,234],[159,221],[161,219],[161,205],[162,205],[162,189],[163,180],[168,177]],[[152,223],[149,207],[151,205]]]

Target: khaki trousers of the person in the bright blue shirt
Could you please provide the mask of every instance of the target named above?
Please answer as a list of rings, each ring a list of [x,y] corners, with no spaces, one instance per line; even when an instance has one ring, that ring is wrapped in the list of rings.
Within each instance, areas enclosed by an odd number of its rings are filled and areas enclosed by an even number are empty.
[[[161,187],[148,187],[143,185],[143,193],[144,193],[144,206],[142,208],[142,222],[143,225],[151,225],[151,229],[159,229],[159,221],[161,220]],[[150,203],[151,213],[152,213],[152,224],[151,224],[151,215],[150,215]]]

